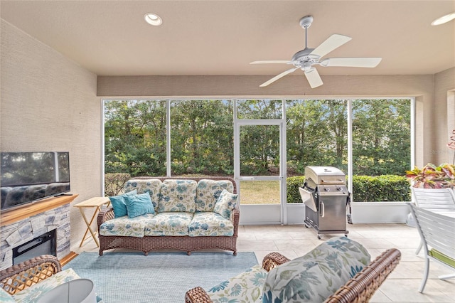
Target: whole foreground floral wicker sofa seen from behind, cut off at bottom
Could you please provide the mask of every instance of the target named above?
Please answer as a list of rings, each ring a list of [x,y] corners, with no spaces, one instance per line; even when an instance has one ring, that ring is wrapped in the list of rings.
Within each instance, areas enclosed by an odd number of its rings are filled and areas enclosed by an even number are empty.
[[[331,238],[294,260],[272,252],[262,266],[255,265],[208,290],[188,290],[185,302],[368,302],[395,269],[400,255],[392,248],[370,262],[360,243]]]

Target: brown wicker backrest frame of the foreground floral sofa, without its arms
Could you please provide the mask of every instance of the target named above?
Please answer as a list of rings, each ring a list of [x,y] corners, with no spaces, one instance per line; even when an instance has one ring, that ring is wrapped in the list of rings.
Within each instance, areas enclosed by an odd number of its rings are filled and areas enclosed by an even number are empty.
[[[397,267],[400,257],[401,252],[396,248],[382,252],[324,303],[369,302],[385,278]]]

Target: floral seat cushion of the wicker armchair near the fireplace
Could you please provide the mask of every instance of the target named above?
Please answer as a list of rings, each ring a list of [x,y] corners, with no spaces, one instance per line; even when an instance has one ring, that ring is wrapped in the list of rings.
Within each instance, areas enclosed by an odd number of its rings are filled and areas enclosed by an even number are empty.
[[[55,275],[46,278],[45,280],[32,285],[26,289],[21,290],[16,294],[13,294],[14,300],[21,303],[36,303],[38,302],[39,297],[41,297],[46,292],[62,285],[65,282],[80,279],[76,272],[72,268],[68,270],[63,270],[57,272]]]

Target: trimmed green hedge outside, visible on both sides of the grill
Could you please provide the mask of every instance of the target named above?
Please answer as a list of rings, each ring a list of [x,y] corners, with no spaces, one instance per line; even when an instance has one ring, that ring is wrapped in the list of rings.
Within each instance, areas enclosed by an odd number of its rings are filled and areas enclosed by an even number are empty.
[[[299,187],[304,182],[304,176],[287,178],[288,203],[301,203]],[[405,176],[353,176],[353,201],[411,201],[410,183]]]

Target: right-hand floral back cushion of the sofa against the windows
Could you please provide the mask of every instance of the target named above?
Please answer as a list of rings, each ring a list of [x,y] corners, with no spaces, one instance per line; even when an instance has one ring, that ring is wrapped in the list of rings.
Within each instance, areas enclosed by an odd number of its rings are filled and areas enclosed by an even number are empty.
[[[196,189],[196,211],[213,211],[216,201],[223,189],[230,193],[234,191],[234,186],[229,180],[208,180],[198,181]]]

